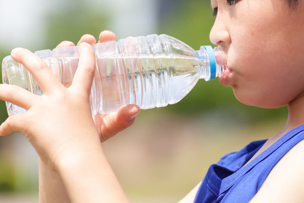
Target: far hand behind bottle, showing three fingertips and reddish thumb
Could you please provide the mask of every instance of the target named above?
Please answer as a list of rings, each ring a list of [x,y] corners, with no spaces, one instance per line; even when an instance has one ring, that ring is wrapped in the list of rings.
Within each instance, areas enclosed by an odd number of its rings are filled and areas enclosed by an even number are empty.
[[[112,41],[116,39],[116,35],[108,30],[105,30],[99,34],[99,40],[98,43],[106,42],[106,41]],[[79,42],[77,43],[77,46],[81,42],[87,42],[88,44],[95,44],[96,40],[95,37],[93,37],[90,34],[85,34],[81,37]],[[56,48],[60,47],[70,47],[75,46],[72,42],[69,41],[63,41],[61,42]],[[135,116],[139,113],[140,107],[135,104],[130,104],[127,106],[122,107],[117,114],[107,114],[102,115],[97,113],[94,116],[94,122],[96,129],[100,136],[100,141],[104,142],[107,139],[113,137],[118,132],[123,131],[124,129],[130,127],[134,121]]]

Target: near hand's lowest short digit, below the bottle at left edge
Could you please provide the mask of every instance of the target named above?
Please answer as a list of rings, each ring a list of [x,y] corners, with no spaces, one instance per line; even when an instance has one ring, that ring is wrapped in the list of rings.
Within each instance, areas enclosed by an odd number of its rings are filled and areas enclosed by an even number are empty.
[[[8,117],[0,126],[0,136],[6,136],[13,132],[21,132],[24,122],[24,114],[16,114]]]

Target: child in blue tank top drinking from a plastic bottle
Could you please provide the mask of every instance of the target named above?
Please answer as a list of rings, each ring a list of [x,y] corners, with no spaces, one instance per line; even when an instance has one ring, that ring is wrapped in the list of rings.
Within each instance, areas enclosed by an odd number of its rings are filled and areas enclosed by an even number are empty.
[[[268,140],[251,142],[211,165],[203,181],[180,203],[302,202],[304,2],[212,0],[211,5],[217,16],[210,39],[223,47],[229,67],[220,82],[231,86],[236,98],[248,105],[288,104],[288,121]],[[40,202],[129,202],[100,143],[130,126],[139,107],[123,107],[116,117],[92,118],[88,101],[95,57],[89,44],[95,40],[90,37],[85,35],[79,42],[78,69],[69,88],[43,61],[20,48],[12,51],[12,57],[34,76],[43,96],[0,86],[2,100],[27,109],[9,117],[0,134],[21,131],[36,149],[41,159]],[[115,35],[104,31],[99,39],[114,40]],[[59,45],[64,46],[73,44]]]

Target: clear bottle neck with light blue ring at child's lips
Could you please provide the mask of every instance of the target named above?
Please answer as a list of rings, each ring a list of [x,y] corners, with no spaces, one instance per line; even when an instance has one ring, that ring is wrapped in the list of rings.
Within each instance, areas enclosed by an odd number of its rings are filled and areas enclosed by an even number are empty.
[[[199,60],[200,77],[206,81],[223,75],[227,68],[226,55],[222,47],[201,46],[200,50],[194,52]]]

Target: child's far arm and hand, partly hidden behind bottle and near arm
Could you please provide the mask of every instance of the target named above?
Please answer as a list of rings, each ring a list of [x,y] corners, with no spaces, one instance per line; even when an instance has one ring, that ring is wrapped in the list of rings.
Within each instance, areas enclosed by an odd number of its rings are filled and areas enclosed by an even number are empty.
[[[99,42],[105,42],[110,40],[115,40],[116,36],[114,33],[110,31],[103,31],[99,35]],[[95,44],[96,40],[92,35],[83,35],[77,45],[81,42],[87,42],[88,44]],[[56,48],[60,47],[69,47],[74,46],[72,42],[63,41]],[[111,129],[111,135],[109,133],[102,134],[101,140],[106,140],[114,135],[116,135],[119,131],[129,127],[133,124],[135,118],[129,119],[137,112],[130,111],[134,105],[129,105],[123,107],[119,110],[118,114],[115,115],[100,115],[97,114],[95,116],[95,125],[98,127],[98,131],[104,131],[102,128]],[[139,109],[139,107],[136,107]],[[114,117],[116,116],[116,117]],[[117,119],[118,118],[118,119]],[[103,120],[106,120],[106,123],[103,123]],[[65,190],[64,184],[58,173],[50,170],[42,161],[39,159],[39,202],[40,203],[48,203],[48,202],[58,202],[58,203],[67,203],[70,202],[67,192]]]

